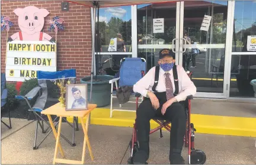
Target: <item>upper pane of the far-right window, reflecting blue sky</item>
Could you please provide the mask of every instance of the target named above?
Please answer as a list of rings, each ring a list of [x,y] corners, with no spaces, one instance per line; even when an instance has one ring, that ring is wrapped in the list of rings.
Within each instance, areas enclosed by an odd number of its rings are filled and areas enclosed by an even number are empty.
[[[248,35],[256,35],[256,2],[235,1],[233,52],[247,51]]]

